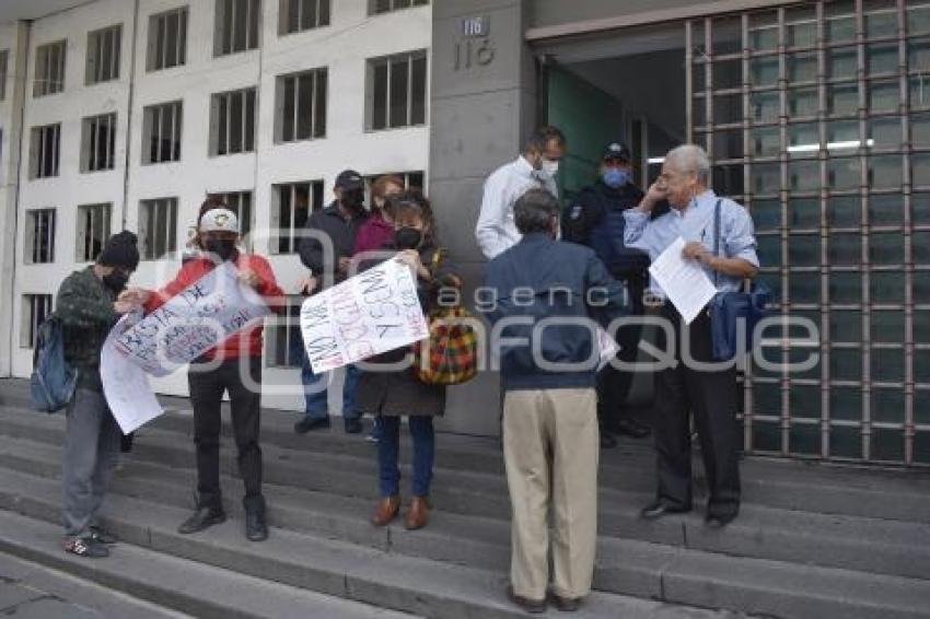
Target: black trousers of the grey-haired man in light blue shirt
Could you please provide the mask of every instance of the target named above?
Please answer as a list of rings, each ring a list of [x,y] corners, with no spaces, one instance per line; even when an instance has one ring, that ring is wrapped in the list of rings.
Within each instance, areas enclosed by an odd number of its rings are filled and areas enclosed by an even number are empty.
[[[662,370],[655,384],[655,449],[658,499],[672,506],[691,506],[691,431],[694,414],[700,441],[710,498],[707,513],[735,515],[740,510],[740,431],[736,423],[736,369],[699,371],[682,363],[684,338],[690,357],[711,361],[710,318],[701,312],[685,327],[678,313],[666,304],[663,317],[674,325],[677,339],[674,369]],[[660,329],[661,331],[661,329]],[[664,344],[664,332],[660,342]],[[663,346],[663,350],[667,350]]]

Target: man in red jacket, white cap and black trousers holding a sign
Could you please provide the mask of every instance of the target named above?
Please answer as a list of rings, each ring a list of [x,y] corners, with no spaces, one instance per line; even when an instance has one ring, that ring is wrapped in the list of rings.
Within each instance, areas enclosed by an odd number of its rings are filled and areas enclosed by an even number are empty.
[[[198,503],[178,532],[197,533],[225,521],[219,459],[220,407],[223,393],[228,392],[240,475],[245,484],[245,534],[249,540],[261,541],[268,537],[258,446],[263,365],[260,318],[265,314],[261,304],[283,311],[284,292],[275,281],[265,258],[239,252],[240,229],[235,213],[225,208],[207,211],[200,218],[198,230],[206,248],[202,257],[184,265],[175,280],[161,291],[132,290],[124,299],[142,303],[150,317],[168,327],[154,347],[156,361],[166,362],[167,371],[173,364],[188,360],[186,355],[199,353],[205,342],[207,346],[219,342],[196,357],[188,369],[197,446]],[[252,301],[247,301],[249,296]],[[237,306],[225,306],[232,302]],[[172,304],[196,306],[201,316],[195,325],[189,313],[184,320],[178,320],[177,316],[183,314],[173,311]],[[234,335],[223,339],[228,334]]]

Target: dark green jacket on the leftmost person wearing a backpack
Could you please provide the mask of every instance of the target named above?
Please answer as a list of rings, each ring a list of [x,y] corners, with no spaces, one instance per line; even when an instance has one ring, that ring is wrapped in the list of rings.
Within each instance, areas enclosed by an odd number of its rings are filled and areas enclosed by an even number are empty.
[[[58,289],[55,313],[61,320],[65,360],[78,371],[78,385],[103,392],[100,353],[119,320],[114,294],[90,266],[68,276]]]

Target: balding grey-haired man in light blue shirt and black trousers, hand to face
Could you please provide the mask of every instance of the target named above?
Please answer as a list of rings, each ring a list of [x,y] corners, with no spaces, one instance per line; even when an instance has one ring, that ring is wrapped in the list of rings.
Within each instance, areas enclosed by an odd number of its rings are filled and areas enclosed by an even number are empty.
[[[672,209],[650,220],[652,209],[667,200]],[[719,229],[714,213],[719,209]],[[710,160],[700,147],[685,144],[665,156],[662,174],[642,202],[625,211],[625,242],[655,260],[679,236],[684,256],[699,264],[718,290],[739,290],[756,275],[759,259],[753,220],[745,208],[710,189]],[[719,252],[714,240],[719,235]],[[655,283],[652,290],[664,296]],[[683,349],[699,362],[712,362],[710,316],[701,312],[685,325],[671,302],[662,316],[674,327],[675,367],[662,370],[655,381],[655,449],[659,487],[655,502],[642,510],[644,518],[684,513],[691,509],[691,445],[689,413],[700,440],[709,489],[707,523],[719,528],[740,511],[740,432],[736,424],[736,369],[698,369],[683,360]],[[660,332],[662,330],[660,329]],[[664,334],[663,334],[664,335]],[[688,347],[683,344],[688,343]],[[667,349],[667,347],[664,347]]]

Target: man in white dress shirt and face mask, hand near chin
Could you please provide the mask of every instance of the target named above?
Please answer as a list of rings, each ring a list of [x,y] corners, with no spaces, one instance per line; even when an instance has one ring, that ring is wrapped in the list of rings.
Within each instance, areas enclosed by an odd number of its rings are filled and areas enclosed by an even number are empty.
[[[556,174],[566,154],[566,139],[555,127],[537,129],[516,161],[497,168],[485,182],[481,214],[475,238],[489,260],[510,249],[521,234],[513,222],[513,205],[530,189],[546,189],[558,198]]]

